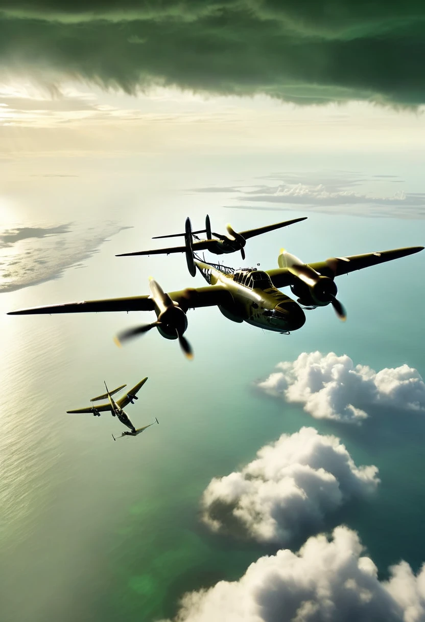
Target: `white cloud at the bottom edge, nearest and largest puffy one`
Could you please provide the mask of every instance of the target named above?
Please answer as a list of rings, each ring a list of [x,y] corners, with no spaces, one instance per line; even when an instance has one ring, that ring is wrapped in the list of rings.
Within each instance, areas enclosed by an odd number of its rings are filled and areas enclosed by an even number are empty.
[[[337,527],[293,553],[260,557],[235,582],[183,596],[175,622],[423,622],[425,567],[406,562],[390,580],[363,555],[359,536]]]

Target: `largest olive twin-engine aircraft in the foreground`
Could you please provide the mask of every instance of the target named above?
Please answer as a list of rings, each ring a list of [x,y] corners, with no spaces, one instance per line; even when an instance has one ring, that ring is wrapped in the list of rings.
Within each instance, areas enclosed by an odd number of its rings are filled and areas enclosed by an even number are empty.
[[[150,280],[150,294],[128,298],[87,300],[33,307],[9,312],[9,315],[39,313],[85,313],[112,311],[155,311],[157,320],[124,330],[116,337],[123,343],[152,328],[167,339],[178,339],[183,353],[192,358],[192,348],[184,333],[188,327],[186,313],[189,309],[217,306],[232,322],[247,322],[253,326],[288,334],[304,325],[304,308],[315,309],[332,305],[337,316],[345,320],[343,305],[337,300],[334,279],[365,267],[406,255],[418,253],[423,246],[398,248],[349,257],[336,257],[326,261],[304,264],[287,251],[281,251],[278,268],[262,271],[252,268],[234,270],[231,267],[196,261],[196,267],[208,282],[206,287],[190,287],[166,294],[160,285]],[[290,287],[297,302],[278,288]]]

